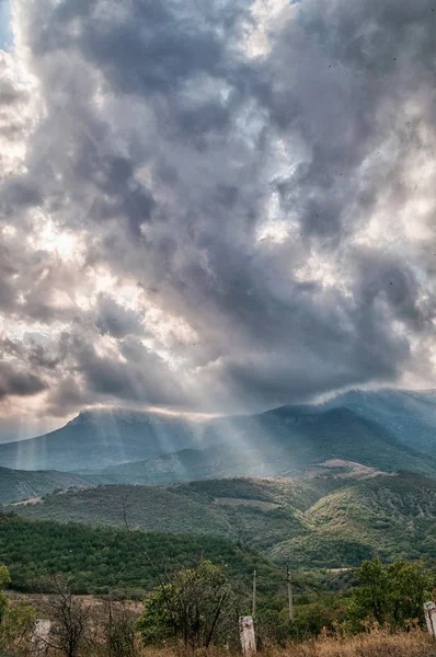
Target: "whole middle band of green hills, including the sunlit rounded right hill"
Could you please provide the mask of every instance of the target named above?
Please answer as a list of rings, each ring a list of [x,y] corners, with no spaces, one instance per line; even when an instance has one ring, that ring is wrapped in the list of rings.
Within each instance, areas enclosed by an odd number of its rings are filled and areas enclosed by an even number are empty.
[[[436,554],[434,480],[337,460],[302,477],[100,486],[13,508],[32,519],[215,535],[292,568]]]

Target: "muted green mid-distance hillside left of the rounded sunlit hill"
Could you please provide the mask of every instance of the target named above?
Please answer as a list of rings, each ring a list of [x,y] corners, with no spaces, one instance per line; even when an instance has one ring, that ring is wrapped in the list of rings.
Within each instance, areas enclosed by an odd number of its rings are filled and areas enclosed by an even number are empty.
[[[27,518],[216,535],[267,551],[309,531],[303,511],[336,488],[329,477],[210,480],[169,487],[111,485],[47,495],[13,510]]]

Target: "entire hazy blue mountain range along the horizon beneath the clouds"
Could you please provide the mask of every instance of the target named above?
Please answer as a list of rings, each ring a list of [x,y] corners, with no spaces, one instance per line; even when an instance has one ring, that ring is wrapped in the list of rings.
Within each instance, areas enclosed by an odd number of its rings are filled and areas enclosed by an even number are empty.
[[[87,411],[45,436],[0,445],[0,465],[91,483],[295,475],[326,459],[436,477],[436,394],[352,391],[326,402],[207,422]]]

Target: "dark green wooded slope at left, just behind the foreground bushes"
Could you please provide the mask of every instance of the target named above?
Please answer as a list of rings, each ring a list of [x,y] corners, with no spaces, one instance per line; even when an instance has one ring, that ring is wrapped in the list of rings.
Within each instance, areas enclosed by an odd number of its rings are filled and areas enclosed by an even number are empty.
[[[57,573],[67,576],[78,593],[142,596],[158,586],[161,577],[202,557],[226,564],[233,584],[248,595],[256,568],[261,600],[284,587],[283,568],[225,539],[95,529],[0,515],[0,563],[10,568],[18,590],[49,590],[47,576]]]

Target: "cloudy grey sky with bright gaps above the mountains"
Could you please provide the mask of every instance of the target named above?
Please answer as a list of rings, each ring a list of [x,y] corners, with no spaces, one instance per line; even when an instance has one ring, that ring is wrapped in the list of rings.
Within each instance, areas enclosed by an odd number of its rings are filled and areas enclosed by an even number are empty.
[[[0,8],[0,439],[435,385],[434,0]]]

